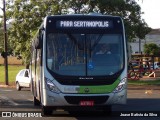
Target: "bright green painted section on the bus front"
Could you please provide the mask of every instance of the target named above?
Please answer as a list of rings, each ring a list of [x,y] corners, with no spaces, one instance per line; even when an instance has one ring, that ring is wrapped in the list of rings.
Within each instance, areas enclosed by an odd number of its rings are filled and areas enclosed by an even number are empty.
[[[97,85],[97,86],[80,86],[78,93],[80,94],[100,94],[110,93],[118,86],[120,79],[118,78],[111,85]]]

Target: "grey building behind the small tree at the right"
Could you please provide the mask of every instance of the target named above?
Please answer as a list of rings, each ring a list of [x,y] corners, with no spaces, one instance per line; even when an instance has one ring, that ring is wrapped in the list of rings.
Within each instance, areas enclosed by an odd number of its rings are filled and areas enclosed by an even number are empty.
[[[145,36],[145,39],[139,42],[136,38],[135,42],[130,43],[132,54],[144,51],[144,44],[155,43],[160,46],[160,29],[152,29],[150,33]]]

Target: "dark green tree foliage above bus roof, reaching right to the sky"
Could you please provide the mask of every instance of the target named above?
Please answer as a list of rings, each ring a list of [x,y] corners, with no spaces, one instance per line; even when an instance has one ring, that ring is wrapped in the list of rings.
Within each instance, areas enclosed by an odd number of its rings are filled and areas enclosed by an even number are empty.
[[[128,40],[144,39],[151,31],[141,18],[140,6],[133,0],[62,0],[74,13],[98,12],[104,15],[117,15],[124,19]]]

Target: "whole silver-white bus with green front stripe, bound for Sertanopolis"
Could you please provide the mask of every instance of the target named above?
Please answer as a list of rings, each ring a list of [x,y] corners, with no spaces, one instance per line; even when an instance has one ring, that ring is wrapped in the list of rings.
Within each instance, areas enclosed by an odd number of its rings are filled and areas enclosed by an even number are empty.
[[[44,114],[126,104],[127,43],[118,16],[45,17],[32,42],[31,61],[34,105]]]

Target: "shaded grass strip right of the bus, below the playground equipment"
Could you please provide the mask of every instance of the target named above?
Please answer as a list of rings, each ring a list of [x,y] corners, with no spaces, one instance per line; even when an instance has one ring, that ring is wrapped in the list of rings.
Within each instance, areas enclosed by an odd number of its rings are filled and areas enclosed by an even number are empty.
[[[147,80],[147,81],[139,81],[139,80],[128,80],[129,85],[160,85],[160,80]]]

